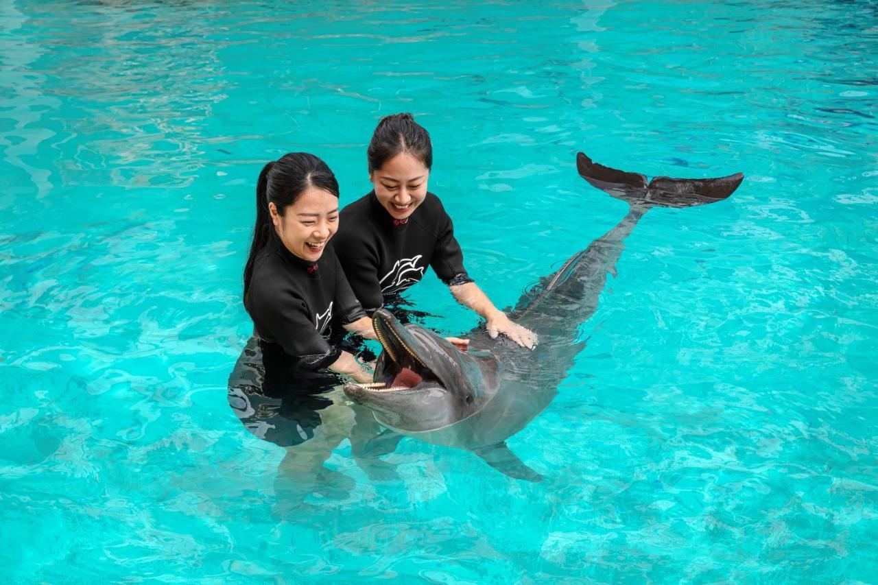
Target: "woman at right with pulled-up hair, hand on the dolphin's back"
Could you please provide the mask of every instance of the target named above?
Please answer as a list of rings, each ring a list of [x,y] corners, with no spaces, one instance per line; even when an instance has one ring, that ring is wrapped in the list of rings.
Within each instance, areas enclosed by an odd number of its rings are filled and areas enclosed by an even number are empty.
[[[487,321],[492,337],[503,334],[528,348],[536,335],[494,307],[464,269],[464,254],[442,203],[427,191],[433,165],[430,136],[412,114],[378,122],[367,150],[373,190],[342,210],[333,246],[357,299],[367,313],[421,280],[431,266],[465,307]],[[457,340],[463,349],[465,340]]]

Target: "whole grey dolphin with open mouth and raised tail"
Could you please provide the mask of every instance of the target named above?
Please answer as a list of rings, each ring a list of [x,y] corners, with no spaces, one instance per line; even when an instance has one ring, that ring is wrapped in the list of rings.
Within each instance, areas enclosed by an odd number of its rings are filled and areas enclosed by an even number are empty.
[[[549,405],[585,347],[576,341],[579,326],[594,314],[607,274],[615,275],[624,239],[653,206],[706,205],[728,198],[744,180],[738,173],[656,177],[647,183],[643,175],[610,169],[582,153],[576,162],[588,183],[628,202],[630,209],[618,225],[518,301],[510,317],[539,336],[535,350],[503,337],[491,339],[481,327],[465,335],[470,350],[461,352],[428,329],[403,326],[383,309],[375,312],[372,324],[383,347],[375,384],[349,383],[344,392],[370,408],[388,432],[474,451],[511,477],[541,480],[509,451],[506,439]]]

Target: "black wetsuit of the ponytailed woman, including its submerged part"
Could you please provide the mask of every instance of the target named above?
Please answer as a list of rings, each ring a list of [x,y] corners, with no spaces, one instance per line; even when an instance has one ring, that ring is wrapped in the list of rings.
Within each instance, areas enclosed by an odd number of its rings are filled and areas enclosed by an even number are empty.
[[[273,232],[256,256],[247,298],[255,336],[229,378],[229,404],[257,437],[288,446],[313,436],[319,394],[341,383],[339,327],[365,316],[333,249],[316,263],[293,256]]]

